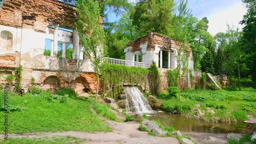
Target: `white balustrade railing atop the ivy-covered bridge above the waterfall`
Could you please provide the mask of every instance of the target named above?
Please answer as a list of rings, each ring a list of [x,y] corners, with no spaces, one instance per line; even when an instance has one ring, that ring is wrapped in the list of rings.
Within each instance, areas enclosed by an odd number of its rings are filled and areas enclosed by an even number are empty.
[[[137,62],[137,61],[129,61],[129,60],[121,60],[121,59],[104,57],[104,62],[108,62],[109,64],[129,66],[129,67],[136,66],[136,67],[141,67],[141,68],[148,68],[148,63]]]

